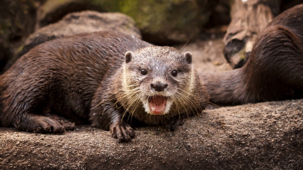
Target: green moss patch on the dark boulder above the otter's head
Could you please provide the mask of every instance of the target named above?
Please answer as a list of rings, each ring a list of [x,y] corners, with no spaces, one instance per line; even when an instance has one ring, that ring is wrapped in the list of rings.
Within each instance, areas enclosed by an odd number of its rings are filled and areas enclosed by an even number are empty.
[[[178,29],[182,31],[198,20],[195,1],[184,0],[124,0],[120,12],[132,17],[140,29],[150,32]],[[190,28],[189,28],[190,29]]]

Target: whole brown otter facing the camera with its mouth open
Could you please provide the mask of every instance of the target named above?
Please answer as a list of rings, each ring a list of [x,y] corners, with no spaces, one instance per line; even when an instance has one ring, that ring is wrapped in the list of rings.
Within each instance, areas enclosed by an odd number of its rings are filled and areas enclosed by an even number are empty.
[[[0,125],[62,133],[91,123],[123,142],[132,118],[175,129],[208,99],[190,52],[86,33],[40,44],[0,76]]]

